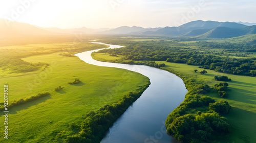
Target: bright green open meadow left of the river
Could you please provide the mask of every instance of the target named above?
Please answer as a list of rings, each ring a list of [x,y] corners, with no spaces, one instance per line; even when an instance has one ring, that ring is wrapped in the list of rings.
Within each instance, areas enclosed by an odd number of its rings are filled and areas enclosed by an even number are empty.
[[[69,44],[36,44],[26,46],[1,47],[1,50],[11,49],[19,51],[24,47],[25,53],[36,47],[44,50],[61,50],[66,47],[68,52],[74,53]],[[65,46],[66,45],[66,46]],[[83,44],[78,51],[99,49],[104,46],[98,44]],[[41,48],[43,49],[43,48]],[[19,51],[20,52],[20,51]],[[50,92],[50,96],[40,98],[9,109],[8,137],[1,134],[0,142],[56,142],[57,133],[67,129],[70,124],[78,124],[82,116],[90,110],[117,102],[124,94],[135,91],[139,86],[148,82],[148,78],[124,69],[99,67],[87,64],[78,57],[65,57],[62,51],[51,51],[49,54],[34,55],[23,58],[27,62],[44,62],[48,67],[29,73],[9,74],[0,77],[1,84],[9,85],[9,102],[35,96],[37,93]],[[16,53],[18,54],[18,53]],[[34,54],[34,53],[32,53]],[[5,71],[1,71],[3,72]],[[68,84],[75,78],[81,82]],[[59,91],[54,88],[64,87]],[[3,102],[1,99],[0,102]],[[1,121],[4,121],[2,114]],[[1,124],[4,129],[4,124]],[[70,132],[71,133],[71,132]]]

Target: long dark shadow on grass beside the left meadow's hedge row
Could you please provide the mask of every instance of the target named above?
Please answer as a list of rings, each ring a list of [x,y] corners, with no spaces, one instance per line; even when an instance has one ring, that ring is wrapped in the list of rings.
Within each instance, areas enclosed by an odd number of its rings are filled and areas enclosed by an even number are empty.
[[[51,94],[49,96],[42,97],[42,98],[37,99],[35,101],[31,101],[31,102],[28,102],[28,103],[23,104],[23,105],[15,106],[15,107],[9,109],[9,114],[17,114],[21,110],[28,109],[29,107],[34,106],[34,105],[38,105],[40,103],[44,103],[49,99],[52,99]]]

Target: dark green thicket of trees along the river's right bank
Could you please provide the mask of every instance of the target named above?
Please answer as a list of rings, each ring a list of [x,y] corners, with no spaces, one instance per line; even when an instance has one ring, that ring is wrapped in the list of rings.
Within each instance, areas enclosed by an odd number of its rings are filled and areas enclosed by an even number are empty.
[[[166,132],[169,135],[181,142],[194,143],[210,142],[230,133],[230,125],[221,115],[229,113],[231,106],[226,101],[218,103],[204,96],[203,93],[211,90],[209,85],[170,68],[161,69],[179,76],[188,90],[185,100],[166,118]]]

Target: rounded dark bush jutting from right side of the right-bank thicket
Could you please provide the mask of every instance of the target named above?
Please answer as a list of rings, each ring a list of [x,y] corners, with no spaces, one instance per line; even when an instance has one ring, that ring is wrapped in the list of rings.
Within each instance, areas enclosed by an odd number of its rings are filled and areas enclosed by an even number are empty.
[[[231,106],[226,101],[220,101],[220,103],[210,103],[209,109],[220,114],[228,114]]]

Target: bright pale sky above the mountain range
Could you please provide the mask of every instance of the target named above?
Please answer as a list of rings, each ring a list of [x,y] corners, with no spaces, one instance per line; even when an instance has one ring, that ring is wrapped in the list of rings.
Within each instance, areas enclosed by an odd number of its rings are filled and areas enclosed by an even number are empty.
[[[256,22],[255,0],[0,0],[0,18],[40,27],[166,27],[193,20]]]

